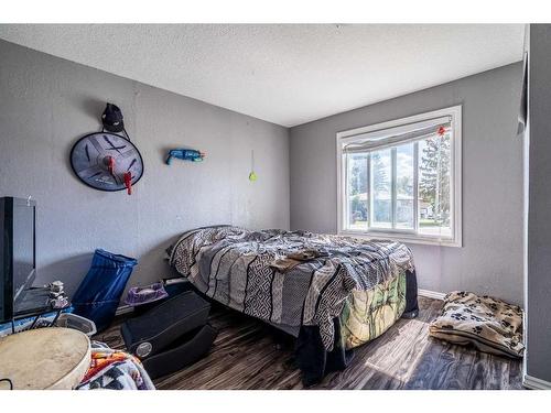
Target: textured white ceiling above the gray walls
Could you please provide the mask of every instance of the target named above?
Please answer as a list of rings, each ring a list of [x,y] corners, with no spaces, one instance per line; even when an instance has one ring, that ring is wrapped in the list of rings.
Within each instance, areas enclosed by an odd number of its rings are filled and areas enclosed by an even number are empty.
[[[0,37],[285,127],[521,58],[521,24],[14,24]]]

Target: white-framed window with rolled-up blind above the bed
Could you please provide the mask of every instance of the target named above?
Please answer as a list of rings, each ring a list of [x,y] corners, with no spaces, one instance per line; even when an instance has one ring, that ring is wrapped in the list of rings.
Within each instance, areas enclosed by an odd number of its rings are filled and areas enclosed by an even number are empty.
[[[461,106],[337,133],[338,232],[461,247]]]

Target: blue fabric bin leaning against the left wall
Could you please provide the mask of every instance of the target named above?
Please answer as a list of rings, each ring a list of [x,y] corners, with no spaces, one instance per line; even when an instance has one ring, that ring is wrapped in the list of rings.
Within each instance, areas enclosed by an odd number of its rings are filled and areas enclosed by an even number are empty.
[[[91,268],[73,296],[74,313],[96,323],[98,332],[107,328],[137,263],[133,258],[96,250]]]

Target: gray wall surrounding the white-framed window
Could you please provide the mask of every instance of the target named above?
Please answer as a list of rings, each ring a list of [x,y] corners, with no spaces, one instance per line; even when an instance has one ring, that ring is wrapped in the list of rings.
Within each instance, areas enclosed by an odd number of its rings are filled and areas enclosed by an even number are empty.
[[[336,132],[462,104],[464,247],[409,244],[419,286],[522,303],[520,83],[517,63],[292,128],[291,228],[336,231]]]

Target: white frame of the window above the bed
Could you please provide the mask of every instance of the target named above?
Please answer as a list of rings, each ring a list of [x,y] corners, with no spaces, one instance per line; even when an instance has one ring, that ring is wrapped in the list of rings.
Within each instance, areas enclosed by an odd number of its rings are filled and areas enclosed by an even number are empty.
[[[452,188],[450,191],[450,209],[451,209],[451,237],[439,237],[429,236],[413,232],[411,229],[375,229],[369,230],[353,230],[346,229],[345,214],[346,214],[346,162],[344,162],[345,153],[343,151],[346,144],[354,142],[359,135],[379,131],[389,128],[396,128],[401,126],[407,126],[410,123],[422,122],[430,119],[435,119],[440,117],[450,117],[452,126],[451,135],[451,169],[450,169],[450,182]],[[388,122],[370,124],[363,128],[356,128],[352,130],[346,130],[338,132],[336,134],[336,153],[337,153],[337,233],[343,236],[352,236],[357,238],[387,238],[392,240],[398,240],[402,242],[411,243],[423,243],[433,246],[444,246],[444,247],[462,247],[462,106],[453,106],[450,108],[444,108],[440,110],[433,110],[431,112],[420,113],[411,116],[408,118],[396,119]],[[385,144],[381,144],[381,148]],[[417,167],[417,157],[414,159],[414,167]],[[415,182],[415,187],[417,187]],[[417,189],[415,189],[417,191]],[[417,204],[417,203],[415,203]],[[418,220],[418,206],[414,206],[414,221]],[[417,227],[417,225],[415,225]]]

